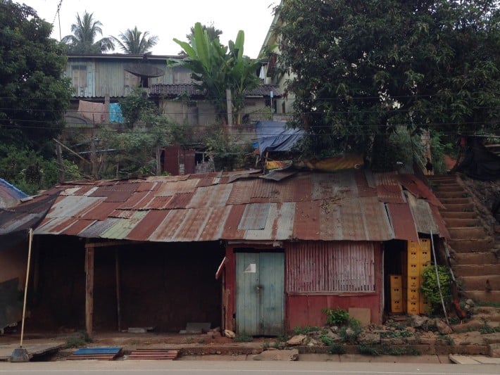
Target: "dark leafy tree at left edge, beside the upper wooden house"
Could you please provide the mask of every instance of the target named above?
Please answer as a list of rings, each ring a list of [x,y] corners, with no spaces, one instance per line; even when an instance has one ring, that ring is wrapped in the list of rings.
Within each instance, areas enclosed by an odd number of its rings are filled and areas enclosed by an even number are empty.
[[[0,0],[0,144],[42,151],[61,134],[72,88],[50,34],[32,8]]]

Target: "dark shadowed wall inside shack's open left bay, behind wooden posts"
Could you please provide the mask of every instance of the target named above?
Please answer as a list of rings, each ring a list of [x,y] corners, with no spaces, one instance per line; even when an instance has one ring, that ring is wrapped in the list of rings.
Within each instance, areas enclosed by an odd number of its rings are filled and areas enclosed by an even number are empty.
[[[37,329],[85,327],[85,241],[41,236],[36,299],[30,325]],[[115,255],[120,269],[121,329],[154,326],[178,332],[187,322],[220,326],[223,256],[218,243],[142,243],[95,249],[94,330],[117,331]]]

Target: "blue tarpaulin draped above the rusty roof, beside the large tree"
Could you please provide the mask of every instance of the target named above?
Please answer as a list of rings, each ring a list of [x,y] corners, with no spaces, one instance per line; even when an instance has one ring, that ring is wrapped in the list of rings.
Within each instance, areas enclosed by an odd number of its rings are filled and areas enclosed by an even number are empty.
[[[302,129],[289,129],[285,121],[258,121],[256,123],[258,151],[290,151],[304,135]]]

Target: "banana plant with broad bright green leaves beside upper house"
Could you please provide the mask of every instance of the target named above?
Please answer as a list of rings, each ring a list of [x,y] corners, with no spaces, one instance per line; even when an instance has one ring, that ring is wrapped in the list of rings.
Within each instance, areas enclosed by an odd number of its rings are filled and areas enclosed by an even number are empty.
[[[255,73],[260,61],[243,54],[244,32],[239,30],[236,42],[229,42],[229,52],[218,38],[211,39],[201,23],[194,25],[190,42],[174,41],[184,49],[186,57],[174,59],[171,64],[184,65],[192,70],[196,87],[212,101],[218,120],[225,123],[226,89],[231,90],[233,109],[238,113],[243,106],[244,91],[254,89],[260,83]]]

